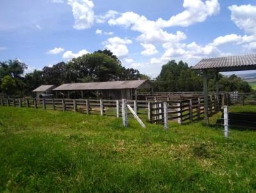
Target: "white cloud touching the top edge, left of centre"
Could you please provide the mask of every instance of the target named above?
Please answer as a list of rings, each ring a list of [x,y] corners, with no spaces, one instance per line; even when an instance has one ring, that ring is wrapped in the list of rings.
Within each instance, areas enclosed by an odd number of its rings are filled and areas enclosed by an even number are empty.
[[[92,27],[95,15],[93,12],[93,2],[90,0],[68,0],[72,6],[75,19],[74,29],[88,29]]]

